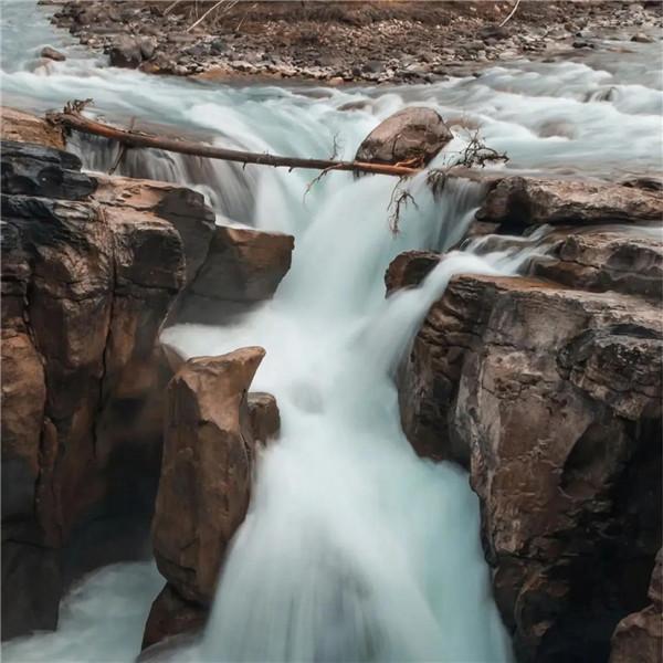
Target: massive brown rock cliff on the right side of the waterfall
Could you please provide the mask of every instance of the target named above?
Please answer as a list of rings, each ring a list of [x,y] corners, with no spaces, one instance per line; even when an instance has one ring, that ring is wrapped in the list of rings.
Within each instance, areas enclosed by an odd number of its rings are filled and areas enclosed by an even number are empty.
[[[483,219],[509,229],[514,220],[550,221],[552,202],[514,209],[499,187],[499,214],[485,213],[495,206],[490,194]],[[576,202],[565,194],[564,204],[583,224],[600,225],[580,233],[560,213],[567,228],[530,261],[530,275],[454,277],[399,376],[417,451],[470,471],[495,597],[519,661],[606,661],[615,625],[632,612],[614,648],[638,641],[653,652],[651,638],[660,638],[660,611],[646,608],[646,592],[661,547],[663,242],[604,224],[634,224],[663,208],[660,194],[648,193],[643,213],[641,191],[629,198],[625,187],[612,188],[619,196],[601,198],[571,187]],[[601,206],[607,218],[596,211]],[[412,285],[434,264],[430,254],[399,256],[388,284]],[[657,660],[648,655],[641,660]]]

